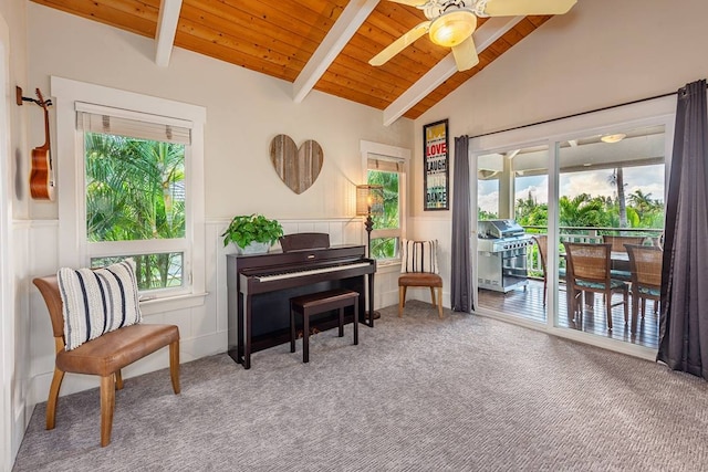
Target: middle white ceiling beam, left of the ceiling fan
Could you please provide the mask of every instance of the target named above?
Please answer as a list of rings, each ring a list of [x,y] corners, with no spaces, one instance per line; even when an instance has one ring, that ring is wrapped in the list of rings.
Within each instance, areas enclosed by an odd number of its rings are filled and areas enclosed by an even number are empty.
[[[317,50],[298,75],[292,84],[293,99],[301,103],[317,83],[330,64],[348,43],[356,30],[366,21],[379,0],[352,0],[340,18],[330,29]]]

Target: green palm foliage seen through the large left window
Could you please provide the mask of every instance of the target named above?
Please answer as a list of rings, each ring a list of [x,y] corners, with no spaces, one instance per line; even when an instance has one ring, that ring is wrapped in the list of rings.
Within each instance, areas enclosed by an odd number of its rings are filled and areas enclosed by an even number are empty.
[[[90,242],[184,238],[184,145],[85,133],[84,149]],[[180,253],[133,256],[140,290],[181,284]]]

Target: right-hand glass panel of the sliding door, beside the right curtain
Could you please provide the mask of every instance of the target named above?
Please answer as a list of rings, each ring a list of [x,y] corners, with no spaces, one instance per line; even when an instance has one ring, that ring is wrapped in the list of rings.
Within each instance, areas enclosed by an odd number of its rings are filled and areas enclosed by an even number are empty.
[[[660,244],[665,149],[664,125],[615,128],[559,143],[558,250],[564,283],[556,286],[561,308],[556,313],[556,327],[657,347],[658,306],[636,306],[634,268],[625,244]],[[565,252],[564,244],[574,243],[611,244],[606,264],[594,259],[583,261],[597,264],[597,271],[606,266],[608,284],[582,279],[590,275],[583,275],[581,268],[570,271],[571,254]],[[569,296],[566,287],[579,281],[593,285],[594,291],[589,289]],[[624,290],[628,293],[626,305]],[[634,333],[629,324],[633,313],[637,313]]]

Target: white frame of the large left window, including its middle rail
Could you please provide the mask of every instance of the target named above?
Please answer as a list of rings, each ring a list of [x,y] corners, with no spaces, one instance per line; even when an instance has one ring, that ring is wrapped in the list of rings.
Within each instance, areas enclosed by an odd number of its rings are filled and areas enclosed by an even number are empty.
[[[155,252],[183,252],[183,285],[143,292],[143,300],[167,301],[205,295],[205,185],[204,125],[206,108],[165,98],[51,77],[55,97],[56,156],[54,161],[59,200],[59,264],[90,266],[91,258]],[[178,120],[191,130],[185,153],[185,240],[144,240],[90,243],[86,234],[84,132],[77,129],[77,103],[121,111],[125,116],[150,117],[154,122]],[[165,245],[167,243],[167,247]],[[103,247],[103,248],[101,248]],[[195,301],[195,304],[202,303]],[[146,304],[146,305],[149,305]],[[142,303],[143,306],[143,303]],[[181,304],[184,306],[184,304]]]

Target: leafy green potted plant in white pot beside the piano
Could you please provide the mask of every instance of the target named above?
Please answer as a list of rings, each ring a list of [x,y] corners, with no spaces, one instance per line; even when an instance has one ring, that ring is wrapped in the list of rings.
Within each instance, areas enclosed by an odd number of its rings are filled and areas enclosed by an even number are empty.
[[[235,243],[239,254],[259,254],[268,252],[283,235],[283,227],[277,220],[269,220],[262,214],[239,214],[233,217],[221,235],[223,245]]]

